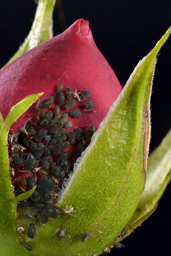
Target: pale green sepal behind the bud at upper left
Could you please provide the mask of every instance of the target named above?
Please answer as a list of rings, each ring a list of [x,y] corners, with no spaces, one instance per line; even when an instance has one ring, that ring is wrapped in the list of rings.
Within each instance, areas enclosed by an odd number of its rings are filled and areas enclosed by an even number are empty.
[[[26,53],[28,50],[53,37],[52,17],[54,5],[55,0],[40,0],[38,2],[33,25],[29,34],[27,35],[23,44],[20,46],[19,50],[13,55],[5,66],[17,59],[20,55]]]

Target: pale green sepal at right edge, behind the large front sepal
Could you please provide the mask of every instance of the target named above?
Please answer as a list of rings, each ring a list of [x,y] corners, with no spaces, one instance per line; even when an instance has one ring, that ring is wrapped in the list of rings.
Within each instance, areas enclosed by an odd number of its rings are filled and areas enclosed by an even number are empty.
[[[153,208],[171,180],[171,130],[149,156],[147,170],[145,189],[131,223]]]

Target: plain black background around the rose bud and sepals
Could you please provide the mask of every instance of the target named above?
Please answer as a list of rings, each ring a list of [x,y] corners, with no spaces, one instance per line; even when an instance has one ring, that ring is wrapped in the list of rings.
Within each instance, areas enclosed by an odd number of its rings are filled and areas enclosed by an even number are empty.
[[[0,67],[17,51],[33,22],[36,4],[33,0],[3,1],[0,4]],[[170,0],[63,0],[66,25],[54,10],[54,35],[63,32],[75,20],[90,21],[94,40],[124,86],[138,61],[154,47],[171,24]],[[169,131],[171,38],[159,55],[151,99],[151,150]],[[123,241],[126,248],[113,249],[111,255],[137,256],[170,250],[171,185],[166,189],[157,211]]]

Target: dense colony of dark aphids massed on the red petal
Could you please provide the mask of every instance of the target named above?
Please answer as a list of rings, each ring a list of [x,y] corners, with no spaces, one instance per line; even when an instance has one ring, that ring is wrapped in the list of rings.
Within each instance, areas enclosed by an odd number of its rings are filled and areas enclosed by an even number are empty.
[[[19,217],[30,222],[25,230],[25,239],[35,238],[39,225],[61,214],[56,206],[60,186],[95,131],[93,125],[88,130],[72,129],[74,118],[79,118],[85,109],[88,109],[88,115],[94,108],[92,101],[87,100],[90,96],[89,90],[78,93],[71,88],[64,90],[59,84],[54,97],[39,101],[34,118],[9,135],[14,194],[20,195],[37,185],[34,193],[18,204]],[[68,147],[73,144],[78,152],[74,152],[75,159],[71,161]],[[56,234],[59,236],[62,235]],[[22,244],[31,250],[26,240]]]

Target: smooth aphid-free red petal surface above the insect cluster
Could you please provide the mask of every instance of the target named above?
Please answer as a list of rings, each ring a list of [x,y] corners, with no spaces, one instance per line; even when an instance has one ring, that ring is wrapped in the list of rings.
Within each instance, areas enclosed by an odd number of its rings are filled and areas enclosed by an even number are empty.
[[[54,95],[56,85],[90,90],[94,111],[75,119],[73,126],[89,127],[104,119],[122,87],[112,68],[95,45],[87,20],[75,21],[66,31],[23,54],[0,71],[0,111],[9,110],[28,94]],[[103,34],[102,34],[103,36]],[[33,104],[13,128],[22,127],[35,113]]]

